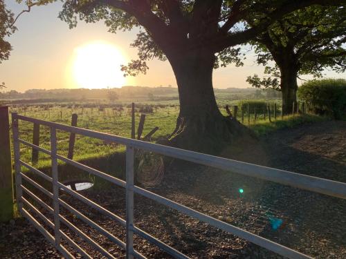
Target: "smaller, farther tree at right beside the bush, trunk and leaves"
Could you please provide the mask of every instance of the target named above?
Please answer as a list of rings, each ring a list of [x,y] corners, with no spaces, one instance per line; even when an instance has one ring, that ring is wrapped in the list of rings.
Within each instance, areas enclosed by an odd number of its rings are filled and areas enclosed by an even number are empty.
[[[257,62],[266,66],[264,73],[268,77],[261,79],[254,75],[247,81],[255,87],[282,91],[283,112],[291,113],[293,103],[296,107],[297,102],[297,77],[307,74],[320,77],[325,68],[344,72],[345,43],[345,5],[297,10],[257,35],[253,41]],[[268,66],[271,61],[274,65]]]

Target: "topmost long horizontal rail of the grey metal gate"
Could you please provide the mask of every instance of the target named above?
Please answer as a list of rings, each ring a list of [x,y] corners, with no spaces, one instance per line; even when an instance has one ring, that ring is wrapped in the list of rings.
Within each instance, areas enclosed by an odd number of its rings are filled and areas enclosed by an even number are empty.
[[[35,122],[37,124],[41,124],[44,126],[55,127],[56,129],[59,129],[61,131],[67,131],[71,133],[85,135],[88,137],[94,137],[99,140],[116,142],[118,144],[122,144],[125,146],[132,146],[134,148],[152,151],[154,153],[159,153],[161,155],[167,155],[169,157],[194,162],[197,164],[203,164],[205,166],[212,166],[217,169],[232,171],[233,173],[239,173],[254,178],[260,178],[262,180],[268,180],[271,182],[277,182],[279,184],[289,185],[307,191],[314,191],[316,193],[322,193],[325,195],[346,199],[346,184],[343,182],[336,182],[332,180],[316,178],[309,175],[302,175],[300,173],[292,173],[289,171],[273,169],[266,166],[259,166],[256,164],[250,164],[246,162],[230,160],[227,158],[216,157],[214,155],[206,155],[194,151],[187,151],[180,148],[173,148],[171,146],[163,146],[160,144],[143,142],[141,140],[131,140],[126,137],[110,135],[107,133],[100,133],[98,131],[91,131],[85,128],[67,126],[55,122],[46,122],[41,119],[33,119],[22,115],[16,115],[16,117],[17,119],[21,119],[26,122]]]

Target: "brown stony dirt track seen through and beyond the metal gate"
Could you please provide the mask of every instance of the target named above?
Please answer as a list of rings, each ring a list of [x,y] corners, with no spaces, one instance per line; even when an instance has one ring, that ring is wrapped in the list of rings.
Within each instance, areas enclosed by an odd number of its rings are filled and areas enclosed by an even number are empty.
[[[251,142],[224,155],[266,166],[346,182],[346,122],[318,122],[271,133],[261,145]],[[230,155],[230,153],[235,155]],[[242,193],[239,191],[242,189]],[[166,166],[165,178],[150,191],[229,222],[313,258],[346,258],[346,200],[330,198],[206,166]],[[83,191],[91,200],[125,218],[125,193],[118,187]],[[82,213],[114,236],[125,240],[125,229],[63,195]],[[62,211],[82,231],[116,258],[124,251]],[[135,224],[191,258],[282,258],[203,222],[135,196]],[[60,254],[26,222],[0,225],[2,258],[60,258]],[[94,258],[102,256],[73,236]],[[135,249],[147,258],[170,258],[146,240],[135,236]],[[80,258],[78,253],[74,253]]]

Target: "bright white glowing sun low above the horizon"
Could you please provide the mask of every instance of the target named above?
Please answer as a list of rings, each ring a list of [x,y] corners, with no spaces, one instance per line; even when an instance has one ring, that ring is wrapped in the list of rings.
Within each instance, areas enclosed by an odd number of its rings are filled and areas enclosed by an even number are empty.
[[[126,81],[121,64],[126,64],[126,60],[116,46],[107,41],[93,41],[75,48],[71,72],[78,87],[120,87]]]

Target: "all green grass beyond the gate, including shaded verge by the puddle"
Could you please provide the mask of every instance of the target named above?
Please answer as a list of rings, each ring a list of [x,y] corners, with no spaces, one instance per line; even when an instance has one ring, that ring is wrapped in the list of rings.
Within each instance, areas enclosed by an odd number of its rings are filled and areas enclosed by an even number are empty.
[[[226,110],[224,106],[228,104],[231,111],[233,111],[233,106],[237,105],[239,100],[227,100],[219,99],[218,105],[221,113],[226,115]],[[246,101],[244,101],[246,102]],[[145,105],[150,105],[148,102]],[[78,106],[73,107],[73,105],[62,105],[62,104],[49,104],[47,105],[30,105],[30,106],[17,106],[12,107],[12,112],[17,112],[20,115],[25,115],[28,117],[35,117],[37,119],[44,119],[51,122],[57,122],[61,124],[71,124],[72,113],[78,114],[78,126],[81,128],[89,128],[94,131],[100,131],[103,133],[111,133],[114,135],[120,135],[123,137],[130,137],[131,135],[131,110],[128,104],[122,104],[123,110],[120,111],[115,109],[114,106],[108,106],[106,108],[91,108],[89,104],[82,104],[84,107]],[[139,104],[138,104],[139,107]],[[160,105],[155,104],[153,113],[147,113],[145,119],[145,127],[143,131],[143,136],[149,133],[155,126],[159,127],[159,130],[155,133],[152,141],[160,139],[161,137],[167,137],[172,133],[176,123],[176,117],[179,115],[179,106],[175,102],[165,102]],[[136,127],[138,126],[140,111],[139,108],[136,109]],[[250,111],[251,112],[251,111]],[[249,118],[249,119],[248,119]],[[266,118],[266,119],[265,119]],[[239,121],[242,121],[241,111],[238,113]],[[251,128],[255,134],[261,136],[273,131],[277,131],[281,128],[293,128],[299,124],[305,124],[310,122],[322,121],[323,117],[318,117],[315,115],[295,115],[295,116],[285,116],[283,119],[280,115],[277,115],[277,120],[273,118],[272,122],[268,122],[268,115],[257,114],[257,119],[253,113],[248,117],[247,111],[244,113],[244,125]],[[33,140],[33,124],[28,122],[20,122],[19,124],[19,136],[28,142]],[[46,126],[41,126],[39,146],[51,150],[50,146],[50,133],[49,128]],[[23,144],[20,145],[21,148],[21,160],[31,164],[31,148]],[[67,156],[69,148],[69,133],[57,131],[57,150],[60,155]],[[103,142],[102,140],[97,140],[91,137],[85,137],[81,135],[76,136],[75,149],[73,160],[82,162],[88,166],[98,169],[109,175],[116,176],[118,178],[124,178],[125,175],[125,146],[119,144],[110,144]],[[94,189],[104,189],[107,188],[109,182],[106,182],[100,178],[92,178],[89,173],[80,171],[73,166],[69,166],[64,162],[58,160],[59,162],[59,172],[60,181],[68,181],[70,178],[75,179],[76,175],[78,179],[92,180],[94,182]],[[48,175],[51,173],[51,157],[44,153],[39,153],[39,162],[35,164],[35,167],[44,171]],[[29,173],[28,170],[22,167],[21,169],[25,173]],[[33,175],[34,176],[34,175]],[[39,178],[36,179],[40,181]],[[51,188],[51,184],[41,182],[43,186],[47,189]],[[0,195],[0,198],[2,195]],[[0,199],[0,205],[4,201]],[[14,210],[16,211],[16,209]],[[17,215],[17,212],[15,212]]]

